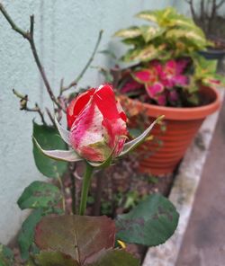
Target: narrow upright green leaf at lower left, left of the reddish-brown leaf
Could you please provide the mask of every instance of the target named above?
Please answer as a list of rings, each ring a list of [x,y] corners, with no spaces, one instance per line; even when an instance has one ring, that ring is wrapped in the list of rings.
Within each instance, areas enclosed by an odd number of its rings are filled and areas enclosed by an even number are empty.
[[[42,208],[37,208],[33,210],[31,215],[23,222],[21,231],[18,235],[18,244],[23,260],[27,260],[29,258],[29,251],[34,240],[34,228],[44,214],[45,213]]]

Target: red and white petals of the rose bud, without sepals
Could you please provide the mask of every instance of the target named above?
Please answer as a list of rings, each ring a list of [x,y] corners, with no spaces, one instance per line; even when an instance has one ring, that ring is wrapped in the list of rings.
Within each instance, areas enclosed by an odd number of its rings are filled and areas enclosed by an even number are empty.
[[[127,117],[116,102],[112,86],[103,84],[80,94],[67,108],[69,141],[77,154],[92,162],[119,155],[127,129]]]

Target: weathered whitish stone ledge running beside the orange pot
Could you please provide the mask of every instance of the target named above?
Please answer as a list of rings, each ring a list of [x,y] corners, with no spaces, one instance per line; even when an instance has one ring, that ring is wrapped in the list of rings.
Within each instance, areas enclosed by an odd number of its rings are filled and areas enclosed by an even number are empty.
[[[221,91],[220,95],[222,99],[224,91]],[[175,177],[175,183],[169,195],[169,199],[180,214],[175,234],[166,244],[149,248],[142,266],[175,266],[219,113],[220,111],[217,111],[204,120]]]

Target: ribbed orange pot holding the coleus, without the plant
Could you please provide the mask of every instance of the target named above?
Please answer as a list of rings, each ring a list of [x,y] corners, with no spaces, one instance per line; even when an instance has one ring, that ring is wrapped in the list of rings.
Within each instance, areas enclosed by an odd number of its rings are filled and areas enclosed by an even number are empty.
[[[174,172],[202,121],[220,107],[219,93],[215,89],[202,86],[200,92],[210,103],[192,108],[162,107],[131,100],[124,95],[120,97],[123,108],[130,114],[135,114],[130,119],[130,128],[137,126],[138,120],[141,119],[139,113],[145,113],[149,121],[165,115],[166,130],[157,125],[152,130],[153,140],[145,141],[139,146],[139,152],[143,151],[141,154],[146,155],[140,160],[140,172],[154,175]]]

